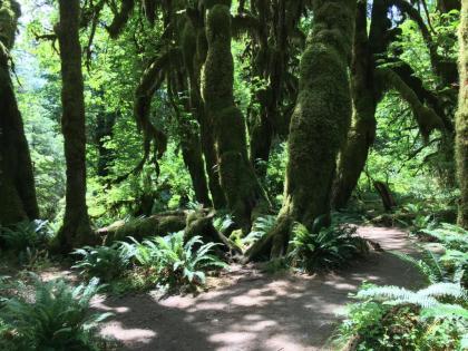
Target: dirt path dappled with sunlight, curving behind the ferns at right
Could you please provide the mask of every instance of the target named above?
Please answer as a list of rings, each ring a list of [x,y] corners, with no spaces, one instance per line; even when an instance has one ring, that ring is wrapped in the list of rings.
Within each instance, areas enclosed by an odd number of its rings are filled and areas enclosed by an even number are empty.
[[[401,231],[361,227],[359,233],[383,250],[416,252]],[[100,300],[95,308],[116,314],[101,332],[127,350],[321,350],[339,321],[337,312],[363,281],[408,287],[421,283],[407,263],[376,252],[369,261],[324,277],[273,277],[236,266],[227,286],[195,298],[147,294]]]

